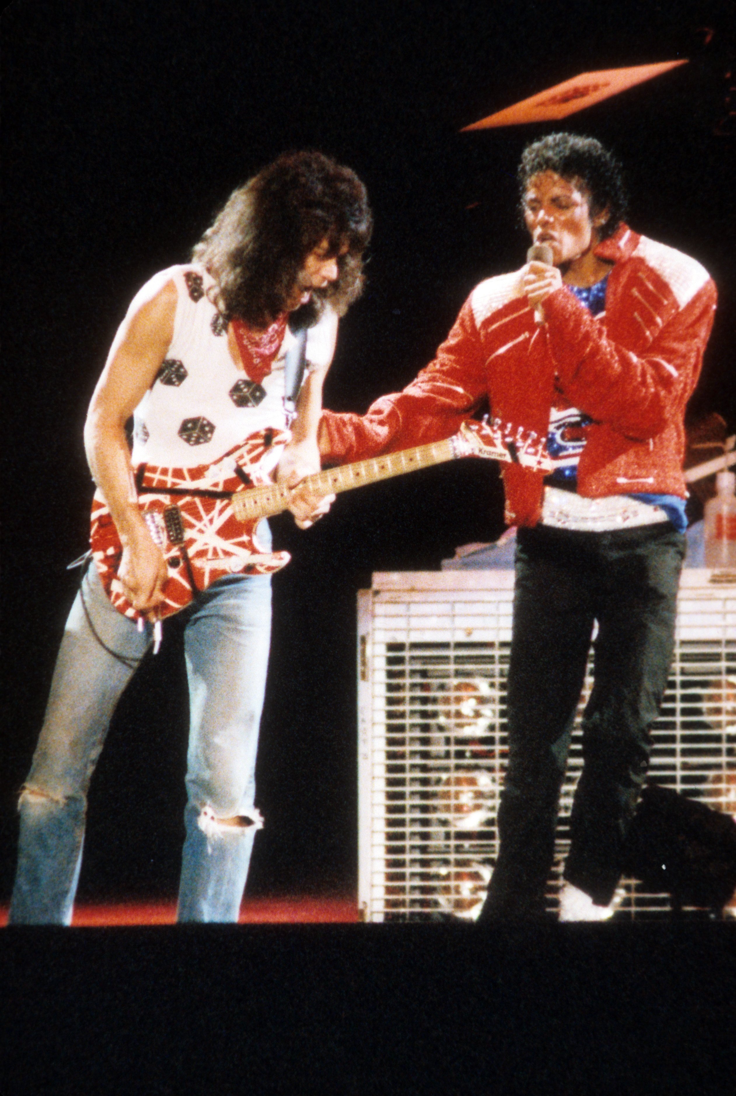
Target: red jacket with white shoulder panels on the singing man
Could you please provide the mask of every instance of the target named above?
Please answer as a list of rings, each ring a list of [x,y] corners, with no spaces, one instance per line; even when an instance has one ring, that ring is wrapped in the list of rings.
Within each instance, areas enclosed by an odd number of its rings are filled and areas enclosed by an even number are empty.
[[[485,396],[494,420],[545,437],[553,404],[593,420],[578,467],[588,498],[687,496],[684,409],[713,323],[715,286],[694,259],[625,225],[596,249],[613,263],[605,310],[592,317],[566,287],[544,301],[537,326],[519,271],[482,282],[434,361],[407,388],[364,415],[326,411],[325,464],[434,442],[454,434]],[[503,465],[506,520],[534,525],[543,473]]]

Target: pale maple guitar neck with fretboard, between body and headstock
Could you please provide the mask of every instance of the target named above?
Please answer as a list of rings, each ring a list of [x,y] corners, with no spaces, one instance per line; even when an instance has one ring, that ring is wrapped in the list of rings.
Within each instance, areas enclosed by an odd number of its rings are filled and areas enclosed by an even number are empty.
[[[403,476],[419,468],[429,468],[445,460],[454,460],[457,452],[452,437],[443,442],[418,445],[412,449],[401,449],[384,457],[370,457],[352,465],[326,468],[314,476],[307,476],[299,484],[317,494],[339,494],[354,487],[375,483],[378,480]],[[233,511],[240,522],[272,517],[288,506],[291,491],[279,483],[258,484],[233,495]]]

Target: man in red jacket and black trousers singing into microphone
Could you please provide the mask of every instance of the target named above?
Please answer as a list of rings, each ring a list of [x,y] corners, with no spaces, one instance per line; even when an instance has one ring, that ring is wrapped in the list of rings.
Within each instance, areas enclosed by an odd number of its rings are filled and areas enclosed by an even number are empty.
[[[716,295],[700,263],[624,224],[621,169],[599,141],[553,134],[529,145],[519,182],[526,264],[473,290],[403,392],[362,416],[325,412],[319,444],[341,463],[435,441],[486,398],[510,438],[546,437],[551,473],[502,470],[506,520],[519,526],[509,760],[480,920],[545,915],[593,642],[559,915],[596,921],[614,910],[667,684],[687,525],[684,409]]]

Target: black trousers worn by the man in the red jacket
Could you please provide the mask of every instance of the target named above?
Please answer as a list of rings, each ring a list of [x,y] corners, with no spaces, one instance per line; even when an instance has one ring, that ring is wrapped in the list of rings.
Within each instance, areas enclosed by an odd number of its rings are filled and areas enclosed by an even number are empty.
[[[565,878],[613,898],[672,657],[684,536],[669,522],[611,533],[521,529],[508,681],[499,856],[480,913],[544,911],[559,790],[593,625],[595,684]]]

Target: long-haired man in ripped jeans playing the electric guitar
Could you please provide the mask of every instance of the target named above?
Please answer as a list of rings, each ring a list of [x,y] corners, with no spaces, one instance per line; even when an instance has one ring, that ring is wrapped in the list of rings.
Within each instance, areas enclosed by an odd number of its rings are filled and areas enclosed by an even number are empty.
[[[322,380],[338,317],[362,288],[370,235],[365,189],[350,169],[318,152],[283,155],[234,192],[191,263],[156,275],[133,300],[84,427],[123,549],[117,578],[131,613],[113,607],[98,568],[88,568],[20,797],[11,923],[70,923],[92,770],[115,705],[160,628],[167,563],[141,517],[133,467],[206,465],[253,432],[290,425],[284,356],[298,313],[308,327],[306,372],[275,475],[296,487],[318,471]],[[296,490],[290,509],[306,528],[330,501]],[[265,522],[258,534],[268,558]],[[234,922],[262,824],[253,774],[270,574],[222,578],[183,614],[191,726],[178,920]]]

